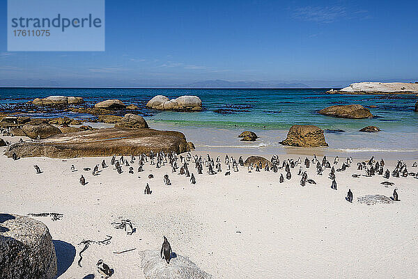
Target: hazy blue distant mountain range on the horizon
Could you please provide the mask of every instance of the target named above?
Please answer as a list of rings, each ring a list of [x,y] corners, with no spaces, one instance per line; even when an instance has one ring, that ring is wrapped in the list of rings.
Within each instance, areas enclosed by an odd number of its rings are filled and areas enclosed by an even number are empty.
[[[183,88],[309,88],[304,83],[274,83],[263,81],[224,81],[222,79],[183,84]]]

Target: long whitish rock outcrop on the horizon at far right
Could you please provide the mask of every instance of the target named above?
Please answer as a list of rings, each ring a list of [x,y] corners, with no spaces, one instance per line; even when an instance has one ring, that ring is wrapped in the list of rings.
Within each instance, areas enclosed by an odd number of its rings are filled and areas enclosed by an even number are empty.
[[[334,93],[351,94],[418,94],[418,83],[357,82]]]

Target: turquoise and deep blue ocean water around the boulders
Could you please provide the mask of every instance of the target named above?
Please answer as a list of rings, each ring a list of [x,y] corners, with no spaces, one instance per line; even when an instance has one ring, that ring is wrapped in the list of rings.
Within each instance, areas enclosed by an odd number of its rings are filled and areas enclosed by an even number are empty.
[[[139,106],[150,127],[183,131],[196,146],[219,151],[254,148],[257,152],[281,153],[279,144],[294,124],[316,125],[325,130],[330,144],[325,150],[364,154],[401,152],[418,158],[418,113],[413,107],[415,95],[339,95],[327,94],[330,88],[318,89],[138,89],[138,88],[0,88],[0,107],[27,102],[35,97],[65,95],[83,97],[88,105],[103,99],[121,99]],[[203,102],[201,112],[155,111],[145,104],[155,95],[169,98],[196,95]],[[318,110],[335,104],[362,104],[374,118],[360,120],[320,115]],[[32,117],[91,118],[77,113],[32,113]],[[378,133],[359,129],[374,125]],[[244,130],[255,131],[254,143],[238,141]],[[341,131],[339,131],[341,130]]]

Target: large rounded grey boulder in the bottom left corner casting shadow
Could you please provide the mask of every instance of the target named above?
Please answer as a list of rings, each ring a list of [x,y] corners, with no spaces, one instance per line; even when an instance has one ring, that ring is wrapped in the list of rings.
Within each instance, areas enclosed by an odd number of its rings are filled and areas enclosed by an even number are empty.
[[[32,218],[0,214],[0,278],[52,279],[56,271],[47,226]]]

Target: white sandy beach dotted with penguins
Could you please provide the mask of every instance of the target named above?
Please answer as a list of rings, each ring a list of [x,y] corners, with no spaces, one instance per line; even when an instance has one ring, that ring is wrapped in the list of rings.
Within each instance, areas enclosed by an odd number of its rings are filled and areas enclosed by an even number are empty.
[[[242,149],[244,159],[251,151]],[[207,151],[198,148],[192,154],[206,157]],[[212,157],[217,155],[211,151]],[[168,165],[157,169],[149,162],[143,173],[137,173],[136,161],[134,175],[126,167],[118,175],[110,166],[93,176],[83,168],[93,170],[103,158],[13,161],[1,156],[1,212],[63,214],[59,221],[33,217],[52,234],[58,278],[100,278],[95,268],[99,259],[114,269],[111,278],[144,278],[138,251],[160,250],[163,236],[175,253],[189,257],[215,278],[418,278],[418,180],[414,177],[391,177],[395,185],[387,187],[380,184],[386,180],[379,175],[353,178],[353,173],[362,173],[355,159],[345,172],[336,173],[335,191],[327,178],[330,171],[318,176],[313,166],[308,178],[317,184],[304,187],[297,175],[299,167],[283,184],[279,174],[284,170],[248,173],[240,167],[239,173],[224,176],[224,155],[223,172],[217,175],[196,175],[190,164],[195,185],[184,175],[171,173]],[[239,154],[229,155],[238,159]],[[300,156],[286,154],[280,159]],[[104,159],[109,164],[110,158]],[[338,166],[342,161],[341,157]],[[407,161],[408,169],[417,173],[412,163]],[[37,175],[34,164],[43,173]],[[70,171],[72,164],[77,172]],[[386,161],[389,170],[395,164]],[[148,179],[150,173],[153,179]],[[82,174],[86,186],[79,184]],[[171,186],[164,185],[164,174],[169,175]],[[147,182],[151,195],[143,193]],[[400,202],[357,203],[357,197],[366,194],[392,196],[395,187]],[[354,193],[353,204],[344,199],[348,189]],[[137,228],[134,234],[111,225],[123,218]],[[112,237],[110,244],[91,244],[78,267],[83,248],[78,244],[107,235]],[[114,253],[132,248],[136,250]]]

